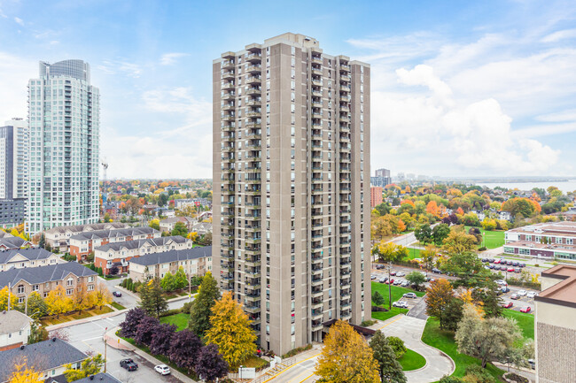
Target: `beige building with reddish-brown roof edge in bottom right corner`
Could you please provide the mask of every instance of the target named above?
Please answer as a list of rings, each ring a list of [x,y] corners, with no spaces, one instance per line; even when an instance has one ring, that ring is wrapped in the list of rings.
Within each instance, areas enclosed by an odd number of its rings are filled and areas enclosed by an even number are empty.
[[[576,266],[542,272],[536,303],[536,382],[576,381]]]

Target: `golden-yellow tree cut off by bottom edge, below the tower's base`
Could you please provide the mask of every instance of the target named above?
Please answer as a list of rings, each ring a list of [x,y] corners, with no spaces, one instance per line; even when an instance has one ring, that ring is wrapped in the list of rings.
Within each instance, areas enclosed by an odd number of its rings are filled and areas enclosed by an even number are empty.
[[[370,346],[341,320],[331,326],[315,374],[331,383],[378,383],[379,364]]]

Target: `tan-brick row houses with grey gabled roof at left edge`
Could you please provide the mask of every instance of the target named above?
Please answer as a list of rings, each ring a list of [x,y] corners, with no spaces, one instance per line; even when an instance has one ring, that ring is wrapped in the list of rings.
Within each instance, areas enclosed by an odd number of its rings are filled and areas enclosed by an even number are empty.
[[[73,295],[74,289],[81,285],[85,285],[87,291],[92,291],[96,286],[97,275],[97,272],[75,262],[12,268],[0,272],[0,289],[10,286],[12,294],[18,297],[18,303],[26,303],[28,295],[33,291],[46,297],[58,286],[66,288],[66,295]]]

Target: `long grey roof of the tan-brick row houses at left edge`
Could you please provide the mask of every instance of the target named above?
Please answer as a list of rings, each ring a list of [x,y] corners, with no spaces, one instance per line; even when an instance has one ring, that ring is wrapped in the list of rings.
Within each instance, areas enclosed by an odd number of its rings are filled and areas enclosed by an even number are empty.
[[[88,267],[77,264],[76,262],[66,262],[63,264],[51,264],[48,266],[26,267],[23,269],[12,268],[5,272],[0,272],[0,288],[15,286],[20,280],[26,280],[29,284],[40,284],[52,280],[63,280],[68,274],[74,274],[76,277],[86,277],[97,275]],[[2,364],[0,364],[2,365]]]

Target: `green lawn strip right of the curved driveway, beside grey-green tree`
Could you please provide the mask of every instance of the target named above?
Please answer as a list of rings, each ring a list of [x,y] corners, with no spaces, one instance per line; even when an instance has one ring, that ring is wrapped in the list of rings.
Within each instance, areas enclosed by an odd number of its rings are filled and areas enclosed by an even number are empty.
[[[455,372],[452,375],[455,377],[463,378],[466,372],[466,367],[471,364],[480,365],[479,359],[458,353],[454,341],[454,333],[440,330],[439,322],[433,318],[428,318],[428,321],[426,322],[424,333],[422,333],[422,341],[429,346],[440,349],[454,360],[456,366]],[[494,367],[494,364],[487,364],[486,371],[494,376],[497,381],[502,381],[499,377],[502,376],[502,373],[504,372],[499,368]]]

